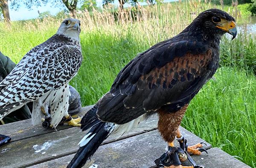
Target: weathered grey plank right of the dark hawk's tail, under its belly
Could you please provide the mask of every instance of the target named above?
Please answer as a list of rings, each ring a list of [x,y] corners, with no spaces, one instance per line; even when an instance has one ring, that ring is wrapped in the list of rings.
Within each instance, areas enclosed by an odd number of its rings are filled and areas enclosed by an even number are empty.
[[[192,142],[193,145],[203,141],[189,131],[185,131],[184,129],[180,131],[188,142]],[[88,168],[95,164],[99,168],[148,168],[154,165],[154,160],[165,152],[166,145],[166,142],[161,138],[157,130],[151,131],[122,141],[103,145],[96,156],[84,167]],[[175,145],[178,146],[177,141],[175,141]],[[206,148],[209,149],[211,147],[211,145],[208,145]]]

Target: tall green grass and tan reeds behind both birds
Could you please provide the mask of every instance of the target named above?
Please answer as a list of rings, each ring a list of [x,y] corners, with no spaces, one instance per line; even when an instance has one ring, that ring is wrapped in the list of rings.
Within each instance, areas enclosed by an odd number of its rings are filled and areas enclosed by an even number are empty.
[[[114,22],[109,15],[95,12],[92,18],[84,13],[79,18],[84,60],[70,82],[79,91],[83,105],[96,103],[110,89],[120,69],[137,53],[183,30],[194,18],[190,11],[198,13],[211,7],[197,1],[172,3],[162,9],[155,6],[142,9],[142,16],[147,17],[135,22],[128,20],[128,15]],[[55,18],[15,22],[10,28],[0,23],[0,50],[17,63],[32,47],[55,34],[60,23]],[[210,80],[196,95],[182,122],[189,131],[254,168],[255,44],[254,35],[239,34],[233,41],[223,38],[216,81]]]

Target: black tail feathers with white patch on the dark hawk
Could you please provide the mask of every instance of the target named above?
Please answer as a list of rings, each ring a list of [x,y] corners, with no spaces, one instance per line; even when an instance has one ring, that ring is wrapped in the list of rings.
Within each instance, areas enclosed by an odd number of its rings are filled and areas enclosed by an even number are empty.
[[[102,122],[96,115],[97,108],[94,106],[81,120],[81,129],[90,131],[79,142],[80,148],[76,152],[67,168],[81,168],[87,160],[93,156],[101,143],[108,138],[113,129],[114,123]]]

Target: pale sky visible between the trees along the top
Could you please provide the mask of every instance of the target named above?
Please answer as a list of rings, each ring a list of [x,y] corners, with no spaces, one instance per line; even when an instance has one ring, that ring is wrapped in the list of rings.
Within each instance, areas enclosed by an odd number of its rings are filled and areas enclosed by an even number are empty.
[[[164,0],[164,2],[172,2],[176,0]],[[97,6],[102,7],[102,0],[96,0]],[[118,6],[118,0],[114,1],[114,5]],[[146,5],[146,3],[140,3],[140,5]],[[128,4],[125,4],[124,7],[128,7]],[[45,11],[50,11],[52,15],[57,14],[59,11],[63,10],[63,8],[54,7],[51,5],[51,3],[47,3],[46,6],[40,6],[40,7],[32,7],[31,10],[27,9],[25,5],[21,4],[20,8],[15,11],[14,9],[11,9],[9,7],[9,13],[11,20],[27,20],[36,18],[39,16],[38,11],[40,13]]]

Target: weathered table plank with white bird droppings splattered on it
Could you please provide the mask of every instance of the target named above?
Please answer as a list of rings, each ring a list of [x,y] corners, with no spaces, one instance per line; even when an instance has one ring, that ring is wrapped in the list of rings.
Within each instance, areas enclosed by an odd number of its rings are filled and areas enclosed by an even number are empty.
[[[138,128],[124,136],[131,137],[136,134],[142,134],[156,129],[156,126],[157,117],[155,116],[146,122],[141,122]],[[183,129],[181,131],[185,132],[188,138],[195,137],[188,131]],[[0,147],[0,151],[7,149],[6,152],[0,153],[0,167],[6,165],[8,167],[26,167],[73,154],[78,149],[77,144],[84,135],[85,132],[80,132],[79,128],[73,127],[6,144]],[[158,138],[161,140],[160,136]],[[115,139],[116,137],[111,136],[105,143],[115,141]]]

